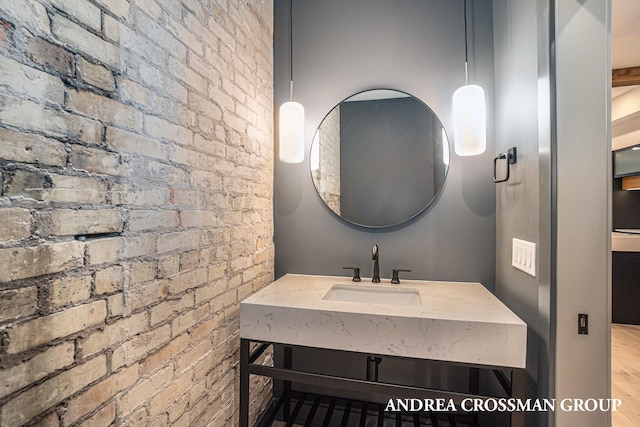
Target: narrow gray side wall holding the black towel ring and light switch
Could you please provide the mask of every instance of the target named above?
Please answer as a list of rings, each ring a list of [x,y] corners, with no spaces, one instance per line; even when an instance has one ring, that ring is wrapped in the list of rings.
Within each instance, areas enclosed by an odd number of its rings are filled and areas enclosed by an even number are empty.
[[[548,398],[551,372],[551,88],[549,2],[494,1],[496,145],[516,146],[511,179],[496,186],[496,294],[529,326],[528,397]],[[536,277],[511,266],[512,238],[536,243]],[[545,413],[527,414],[545,426]]]

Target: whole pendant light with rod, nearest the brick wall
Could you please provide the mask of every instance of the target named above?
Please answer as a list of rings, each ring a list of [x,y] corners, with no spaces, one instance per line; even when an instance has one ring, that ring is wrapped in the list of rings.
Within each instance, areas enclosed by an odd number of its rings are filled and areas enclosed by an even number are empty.
[[[304,107],[293,100],[293,0],[289,2],[289,101],[280,106],[279,158],[284,163],[304,160]]]

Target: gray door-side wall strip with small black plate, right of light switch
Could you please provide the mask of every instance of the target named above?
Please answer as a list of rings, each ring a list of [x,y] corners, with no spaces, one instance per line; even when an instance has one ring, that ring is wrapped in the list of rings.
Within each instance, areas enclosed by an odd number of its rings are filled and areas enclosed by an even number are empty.
[[[558,399],[611,394],[611,0],[557,0],[556,369]],[[589,335],[577,334],[578,313]],[[561,427],[610,414],[556,412]]]

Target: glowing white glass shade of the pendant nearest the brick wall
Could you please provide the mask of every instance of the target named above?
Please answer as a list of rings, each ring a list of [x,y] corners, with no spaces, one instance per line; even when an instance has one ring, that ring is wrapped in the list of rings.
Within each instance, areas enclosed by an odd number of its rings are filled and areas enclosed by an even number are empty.
[[[294,101],[280,106],[279,158],[284,163],[304,160],[304,107]]]

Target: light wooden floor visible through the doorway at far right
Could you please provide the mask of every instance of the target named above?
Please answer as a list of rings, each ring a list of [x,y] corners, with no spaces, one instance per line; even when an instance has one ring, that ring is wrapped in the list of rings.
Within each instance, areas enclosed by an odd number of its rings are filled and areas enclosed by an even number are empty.
[[[640,326],[611,326],[611,396],[622,400],[613,427],[640,426]]]

